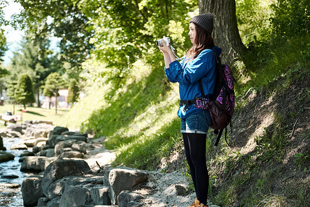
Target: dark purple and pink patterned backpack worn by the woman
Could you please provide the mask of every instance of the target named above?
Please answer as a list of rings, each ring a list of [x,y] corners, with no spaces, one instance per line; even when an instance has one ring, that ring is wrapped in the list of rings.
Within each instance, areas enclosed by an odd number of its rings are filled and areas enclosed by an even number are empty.
[[[218,146],[224,129],[225,140],[227,142],[227,126],[229,124],[231,126],[231,117],[235,108],[234,82],[236,82],[236,79],[229,66],[220,63],[220,57],[217,57],[215,52],[214,55],[216,57],[216,85],[214,87],[214,94],[209,98],[205,97],[203,83],[200,79],[199,86],[203,97],[195,98],[196,103],[194,103],[194,107],[209,110],[211,116],[210,127],[218,135],[215,144],[215,146]]]

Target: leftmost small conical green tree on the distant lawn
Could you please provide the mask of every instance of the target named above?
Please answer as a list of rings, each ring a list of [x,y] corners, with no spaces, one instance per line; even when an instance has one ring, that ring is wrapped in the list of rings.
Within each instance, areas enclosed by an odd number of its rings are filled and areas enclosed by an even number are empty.
[[[23,74],[19,78],[16,99],[17,103],[23,104],[24,108],[27,103],[33,103],[35,101],[32,80],[27,74]]]

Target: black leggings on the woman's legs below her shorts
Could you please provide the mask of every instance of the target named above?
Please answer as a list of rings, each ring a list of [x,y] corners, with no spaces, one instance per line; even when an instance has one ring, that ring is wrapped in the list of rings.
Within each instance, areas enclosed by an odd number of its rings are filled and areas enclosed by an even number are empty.
[[[209,175],[205,159],[207,135],[183,133],[185,154],[200,203],[207,204]]]

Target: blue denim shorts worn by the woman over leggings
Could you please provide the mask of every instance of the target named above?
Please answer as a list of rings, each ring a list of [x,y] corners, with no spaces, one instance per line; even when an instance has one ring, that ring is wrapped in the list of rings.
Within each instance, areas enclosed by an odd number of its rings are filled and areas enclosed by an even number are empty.
[[[181,119],[180,132],[207,134],[210,124],[209,110],[201,110],[194,115]]]

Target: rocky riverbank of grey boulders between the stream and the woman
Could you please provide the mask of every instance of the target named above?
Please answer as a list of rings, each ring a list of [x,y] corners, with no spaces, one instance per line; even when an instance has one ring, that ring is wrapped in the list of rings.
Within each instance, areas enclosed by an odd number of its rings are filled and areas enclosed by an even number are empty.
[[[21,185],[24,206],[183,207],[194,201],[181,171],[111,168],[115,154],[103,138],[43,121],[8,126],[0,135],[20,138],[11,148],[32,148],[20,157],[21,171],[37,173]]]

